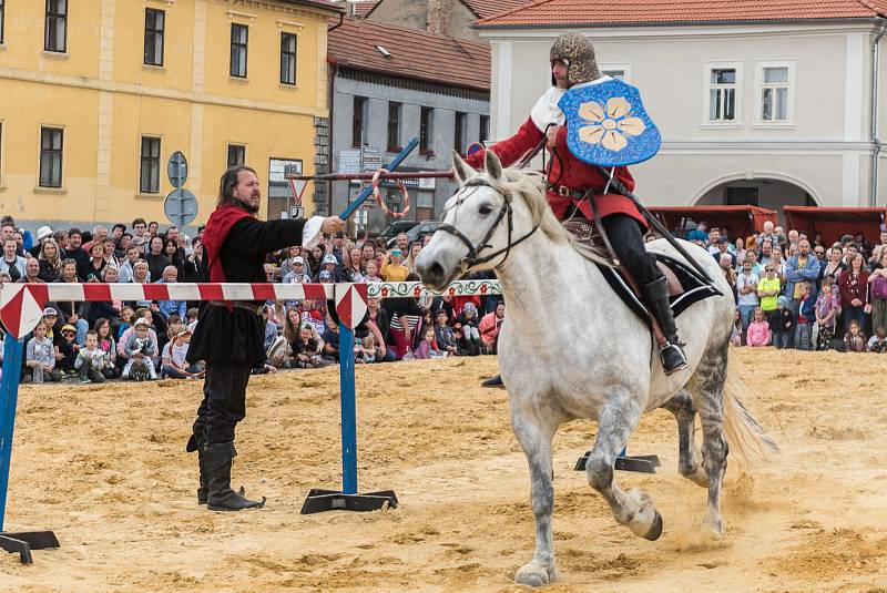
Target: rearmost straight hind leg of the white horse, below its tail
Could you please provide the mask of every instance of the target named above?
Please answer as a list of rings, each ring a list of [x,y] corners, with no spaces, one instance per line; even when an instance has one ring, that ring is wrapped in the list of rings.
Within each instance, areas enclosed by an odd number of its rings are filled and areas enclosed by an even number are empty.
[[[727,440],[724,436],[724,384],[727,378],[727,344],[708,351],[693,376],[696,409],[702,420],[702,467],[708,476],[708,504],[702,524],[715,538],[723,534],[721,484],[727,471]]]

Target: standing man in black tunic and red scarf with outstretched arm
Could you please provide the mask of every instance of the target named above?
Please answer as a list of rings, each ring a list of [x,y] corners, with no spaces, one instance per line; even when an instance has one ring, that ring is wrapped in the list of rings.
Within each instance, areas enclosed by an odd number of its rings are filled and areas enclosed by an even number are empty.
[[[322,233],[337,233],[345,222],[330,216],[268,221],[255,217],[262,202],[254,170],[235,166],[222,175],[218,202],[203,236],[201,282],[263,283],[268,252],[289,245],[313,247]],[[246,385],[251,369],[265,360],[262,303],[210,300],[202,304],[187,360],[206,360],[203,402],[197,410],[188,451],[198,451],[201,488],[197,501],[214,511],[255,509],[231,488],[234,429],[246,416]]]

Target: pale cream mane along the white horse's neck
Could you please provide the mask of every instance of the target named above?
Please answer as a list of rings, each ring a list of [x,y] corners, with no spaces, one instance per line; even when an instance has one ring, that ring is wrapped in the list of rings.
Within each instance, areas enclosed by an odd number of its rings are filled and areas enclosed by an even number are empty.
[[[488,175],[489,176],[489,175]],[[520,195],[530,209],[533,225],[539,225],[540,231],[552,241],[567,242],[582,257],[604,266],[612,266],[612,259],[603,249],[577,241],[551,212],[551,206],[546,200],[546,177],[538,171],[509,167],[502,170],[500,180],[490,182],[503,194]]]

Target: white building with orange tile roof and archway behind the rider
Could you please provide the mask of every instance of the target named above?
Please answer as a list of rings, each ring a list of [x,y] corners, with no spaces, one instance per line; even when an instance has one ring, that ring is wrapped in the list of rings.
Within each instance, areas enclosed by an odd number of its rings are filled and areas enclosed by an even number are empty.
[[[884,205],[886,14],[885,0],[537,1],[475,25],[493,50],[491,136],[527,120],[551,43],[580,31],[662,131],[632,167],[645,203]]]

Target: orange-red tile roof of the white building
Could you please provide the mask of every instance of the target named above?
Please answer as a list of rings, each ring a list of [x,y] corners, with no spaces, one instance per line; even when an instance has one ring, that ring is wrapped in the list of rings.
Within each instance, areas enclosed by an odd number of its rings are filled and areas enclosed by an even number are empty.
[[[476,27],[577,27],[871,19],[887,0],[536,0]]]

